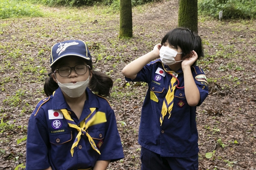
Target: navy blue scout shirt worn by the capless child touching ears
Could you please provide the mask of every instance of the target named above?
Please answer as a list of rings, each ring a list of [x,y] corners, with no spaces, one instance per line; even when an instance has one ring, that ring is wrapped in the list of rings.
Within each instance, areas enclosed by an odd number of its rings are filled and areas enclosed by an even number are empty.
[[[167,65],[164,67],[166,71],[171,71]],[[201,68],[194,66],[191,69],[200,92],[199,106],[208,95],[208,83]],[[157,59],[145,65],[135,79],[125,77],[127,81],[148,83],[141,113],[139,144],[162,157],[190,157],[199,151],[196,107],[188,105],[184,88],[175,88],[171,117],[168,119],[169,113],[167,113],[160,126],[163,100],[173,78],[166,71],[163,70],[163,63]],[[180,68],[176,73],[179,80],[178,87],[184,87],[182,69]]]

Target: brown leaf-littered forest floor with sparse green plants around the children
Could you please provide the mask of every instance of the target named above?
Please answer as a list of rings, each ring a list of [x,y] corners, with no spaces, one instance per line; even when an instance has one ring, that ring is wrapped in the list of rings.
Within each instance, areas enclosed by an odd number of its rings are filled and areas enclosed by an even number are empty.
[[[114,81],[108,100],[125,158],[108,170],[139,170],[138,129],[147,85],[127,84],[121,70],[177,27],[177,1],[134,7],[131,39],[118,38],[119,12],[107,7],[42,7],[44,17],[0,20],[0,169],[21,170],[26,164],[28,119],[45,97],[51,46],[80,39],[98,57],[95,69]],[[197,109],[199,169],[256,170],[256,20],[199,16],[198,34],[205,51],[198,65],[209,82],[209,96]]]

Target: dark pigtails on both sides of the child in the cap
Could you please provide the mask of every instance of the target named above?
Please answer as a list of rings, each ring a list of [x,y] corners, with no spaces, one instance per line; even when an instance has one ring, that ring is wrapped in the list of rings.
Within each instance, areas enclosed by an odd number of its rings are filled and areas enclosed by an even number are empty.
[[[90,69],[93,68],[92,61],[88,62],[86,60],[86,63],[90,66]],[[52,65],[52,71],[48,74],[49,77],[47,77],[44,82],[44,93],[46,94],[46,96],[51,96],[53,92],[59,87],[52,78],[52,73],[55,71],[55,69],[55,65]],[[93,77],[90,79],[88,88],[90,88],[91,91],[98,94],[99,96],[110,97],[110,91],[113,87],[113,80],[108,77],[108,75],[99,71],[93,71],[92,75]]]

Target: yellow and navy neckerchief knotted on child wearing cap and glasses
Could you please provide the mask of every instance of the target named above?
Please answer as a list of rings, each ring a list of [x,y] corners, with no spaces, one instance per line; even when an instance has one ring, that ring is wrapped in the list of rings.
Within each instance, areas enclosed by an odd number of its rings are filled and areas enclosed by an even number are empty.
[[[96,152],[98,152],[100,154],[99,149],[96,147],[95,142],[93,141],[93,139],[89,135],[89,133],[86,132],[86,130],[89,126],[107,122],[106,114],[104,112],[100,112],[100,111],[96,112],[96,108],[90,108],[90,111],[91,111],[91,113],[80,123],[81,127],[79,127],[76,125],[74,120],[71,119],[71,116],[67,112],[67,109],[61,109],[63,116],[65,117],[65,119],[67,119],[68,125],[70,127],[75,128],[77,131],[79,131],[79,133],[77,134],[76,139],[71,147],[71,150],[70,150],[72,157],[73,157],[73,153],[74,153],[74,147],[77,147],[77,145],[81,139],[81,135],[84,135],[84,134],[88,137],[91,147],[94,150],[96,150]]]

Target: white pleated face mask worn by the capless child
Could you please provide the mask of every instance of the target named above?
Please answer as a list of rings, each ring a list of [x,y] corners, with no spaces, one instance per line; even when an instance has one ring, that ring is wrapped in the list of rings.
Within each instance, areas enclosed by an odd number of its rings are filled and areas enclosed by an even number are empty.
[[[182,54],[182,53],[178,53],[177,51],[175,51],[172,48],[169,48],[167,46],[162,46],[160,48],[160,59],[163,62],[163,64],[165,65],[172,65],[175,64],[175,57],[177,54]],[[177,62],[181,62],[183,60],[177,61]]]

